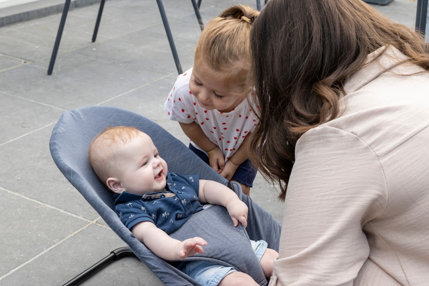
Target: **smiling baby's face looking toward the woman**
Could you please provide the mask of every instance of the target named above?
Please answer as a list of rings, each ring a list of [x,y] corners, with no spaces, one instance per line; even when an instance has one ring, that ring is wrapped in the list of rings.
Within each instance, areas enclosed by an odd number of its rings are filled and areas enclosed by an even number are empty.
[[[148,135],[139,132],[124,145],[118,157],[118,166],[123,170],[118,179],[128,193],[143,195],[163,190],[167,163]]]

